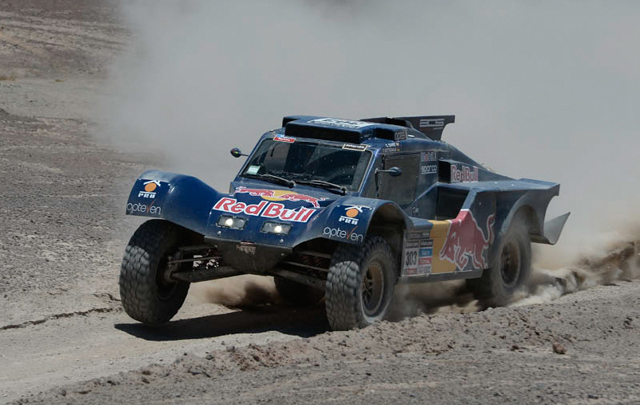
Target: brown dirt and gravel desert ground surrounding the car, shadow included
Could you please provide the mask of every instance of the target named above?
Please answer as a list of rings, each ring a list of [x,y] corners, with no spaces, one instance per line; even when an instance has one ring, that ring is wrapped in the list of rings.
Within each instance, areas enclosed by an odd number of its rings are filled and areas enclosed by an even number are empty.
[[[130,40],[116,6],[0,0],[0,403],[640,402],[638,281],[330,333],[320,307],[232,310],[201,287],[168,327],[133,322],[123,201],[163,162],[90,136]]]

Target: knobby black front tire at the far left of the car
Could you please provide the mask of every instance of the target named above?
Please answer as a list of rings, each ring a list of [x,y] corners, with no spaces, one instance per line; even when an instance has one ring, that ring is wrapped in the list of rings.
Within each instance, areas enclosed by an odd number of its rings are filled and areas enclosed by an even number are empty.
[[[177,252],[188,234],[171,222],[143,223],[129,240],[120,269],[120,297],[125,312],[146,324],[169,321],[187,297],[189,283],[171,282],[165,277],[168,256]],[[182,263],[176,271],[186,271]]]

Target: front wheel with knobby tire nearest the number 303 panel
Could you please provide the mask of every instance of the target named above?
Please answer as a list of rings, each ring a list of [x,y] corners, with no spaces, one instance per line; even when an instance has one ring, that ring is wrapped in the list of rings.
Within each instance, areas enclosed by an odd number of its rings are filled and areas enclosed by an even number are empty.
[[[367,327],[384,319],[396,284],[393,253],[380,237],[340,245],[327,276],[326,310],[333,330]]]

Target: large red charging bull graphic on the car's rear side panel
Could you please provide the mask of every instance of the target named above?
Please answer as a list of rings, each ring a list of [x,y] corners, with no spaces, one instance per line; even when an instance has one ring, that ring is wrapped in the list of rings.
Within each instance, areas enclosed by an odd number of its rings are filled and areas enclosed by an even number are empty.
[[[451,222],[444,245],[440,250],[440,260],[448,260],[463,270],[471,261],[474,269],[487,267],[489,245],[493,242],[495,214],[487,218],[487,236],[478,226],[469,210],[461,210]]]

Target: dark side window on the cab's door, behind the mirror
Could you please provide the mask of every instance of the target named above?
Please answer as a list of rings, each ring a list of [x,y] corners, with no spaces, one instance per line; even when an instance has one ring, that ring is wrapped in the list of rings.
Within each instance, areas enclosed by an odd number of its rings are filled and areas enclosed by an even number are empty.
[[[402,174],[393,177],[388,173],[380,173],[380,198],[391,200],[405,207],[416,198],[418,175],[420,173],[420,154],[392,155],[384,157],[384,169],[398,167]]]

